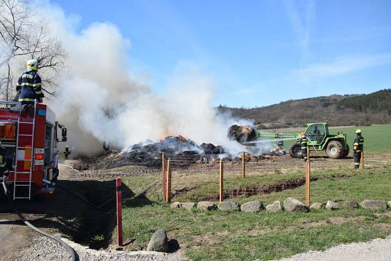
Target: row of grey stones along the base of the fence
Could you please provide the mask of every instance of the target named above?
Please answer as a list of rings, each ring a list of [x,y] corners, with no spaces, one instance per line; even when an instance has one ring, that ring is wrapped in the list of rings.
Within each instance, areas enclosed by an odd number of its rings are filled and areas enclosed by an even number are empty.
[[[358,204],[356,201],[345,201],[343,205],[333,202],[327,201],[326,209],[328,210],[336,210],[341,208],[358,208],[358,206],[362,208],[378,210],[378,209],[387,209],[387,205],[391,208],[391,200],[386,203],[384,200],[373,200],[366,199]],[[289,212],[308,212],[308,207],[304,205],[301,201],[288,197],[283,201],[283,206],[286,211]],[[243,211],[243,212],[259,212],[264,209],[263,203],[259,200],[253,200],[250,202],[246,202],[243,205],[239,206],[238,203],[232,201],[223,201],[216,206],[211,201],[200,201],[198,204],[194,202],[174,202],[171,204],[171,208],[184,208],[187,210],[191,210],[197,207],[200,210],[214,210],[218,208],[221,211]],[[311,209],[322,209],[324,208],[323,203],[313,203],[310,208]],[[266,206],[266,211],[269,212],[277,212],[282,211],[281,202],[279,200],[274,201],[273,204]]]

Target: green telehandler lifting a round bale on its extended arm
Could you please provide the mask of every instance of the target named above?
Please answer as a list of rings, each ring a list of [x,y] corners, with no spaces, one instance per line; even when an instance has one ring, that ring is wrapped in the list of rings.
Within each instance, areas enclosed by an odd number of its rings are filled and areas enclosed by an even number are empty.
[[[327,122],[307,123],[307,129],[304,133],[311,151],[326,151],[327,156],[333,159],[346,158],[349,154],[346,133],[330,134]],[[300,133],[261,133],[248,126],[233,125],[228,129],[228,138],[237,140],[245,146],[255,146],[259,142],[274,141],[274,139],[295,139],[296,142],[289,147],[289,155],[293,158],[303,157],[299,143],[300,137]],[[273,140],[260,138],[273,138]]]

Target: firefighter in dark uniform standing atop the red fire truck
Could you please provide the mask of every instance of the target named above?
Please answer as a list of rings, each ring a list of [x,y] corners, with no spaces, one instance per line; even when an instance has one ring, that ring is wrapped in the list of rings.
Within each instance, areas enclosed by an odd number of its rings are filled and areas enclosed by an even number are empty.
[[[26,63],[27,69],[23,72],[16,84],[17,95],[19,95],[19,102],[21,102],[21,117],[26,112],[30,117],[34,116],[34,102],[43,102],[42,82],[38,75],[39,62],[35,59],[28,60]]]

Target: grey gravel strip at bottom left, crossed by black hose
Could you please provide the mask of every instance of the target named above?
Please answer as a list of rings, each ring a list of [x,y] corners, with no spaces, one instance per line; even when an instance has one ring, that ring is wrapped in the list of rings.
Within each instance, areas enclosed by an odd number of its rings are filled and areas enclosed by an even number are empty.
[[[56,235],[58,236],[58,235]],[[63,239],[63,238],[62,238]],[[177,254],[166,254],[149,251],[98,251],[75,244],[69,240],[63,239],[79,255],[80,261],[181,261],[183,258]],[[33,244],[20,252],[18,261],[67,261],[70,260],[70,254],[60,243],[46,238],[34,237]]]

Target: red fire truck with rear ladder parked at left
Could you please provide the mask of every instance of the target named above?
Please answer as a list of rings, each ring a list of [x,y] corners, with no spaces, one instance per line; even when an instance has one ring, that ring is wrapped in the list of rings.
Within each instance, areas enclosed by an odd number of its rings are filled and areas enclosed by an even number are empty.
[[[33,117],[20,117],[20,108],[19,102],[0,101],[0,151],[9,170],[5,183],[13,198],[31,199],[53,193],[50,182],[59,174],[57,129],[62,129],[61,141],[66,141],[66,129],[46,105],[35,103]]]

